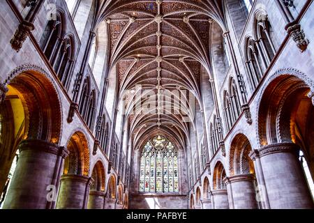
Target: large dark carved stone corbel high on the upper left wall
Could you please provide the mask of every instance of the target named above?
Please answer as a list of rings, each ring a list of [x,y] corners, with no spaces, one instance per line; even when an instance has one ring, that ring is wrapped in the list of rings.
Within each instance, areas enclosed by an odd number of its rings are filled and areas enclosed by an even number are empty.
[[[11,47],[20,52],[27,37],[31,34],[31,31],[35,29],[35,26],[31,22],[23,21],[15,31],[13,38],[10,40]]]

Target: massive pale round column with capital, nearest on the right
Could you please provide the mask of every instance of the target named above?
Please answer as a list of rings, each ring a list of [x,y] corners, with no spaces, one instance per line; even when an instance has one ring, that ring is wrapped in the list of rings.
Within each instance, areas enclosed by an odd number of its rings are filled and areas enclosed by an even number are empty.
[[[299,146],[292,143],[271,144],[260,148],[259,153],[270,208],[314,208],[299,162]]]

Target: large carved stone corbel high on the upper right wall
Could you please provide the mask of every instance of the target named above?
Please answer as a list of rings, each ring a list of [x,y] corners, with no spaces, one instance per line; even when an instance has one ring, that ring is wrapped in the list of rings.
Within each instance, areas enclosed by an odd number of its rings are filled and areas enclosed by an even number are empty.
[[[286,29],[289,36],[294,40],[295,43],[297,43],[297,47],[299,47],[301,52],[306,51],[310,41],[306,38],[301,25],[293,23],[288,24]]]

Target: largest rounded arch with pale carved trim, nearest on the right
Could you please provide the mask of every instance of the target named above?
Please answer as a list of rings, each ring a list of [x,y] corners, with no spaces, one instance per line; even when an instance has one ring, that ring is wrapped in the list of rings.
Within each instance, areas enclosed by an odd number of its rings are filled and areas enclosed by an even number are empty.
[[[290,105],[287,100],[296,93],[299,97],[308,95],[313,101],[313,80],[299,70],[281,69],[267,80],[261,92],[255,117],[258,144],[266,146],[276,142],[291,142],[290,114],[287,114],[291,109],[285,106],[291,108],[299,98],[294,98]]]

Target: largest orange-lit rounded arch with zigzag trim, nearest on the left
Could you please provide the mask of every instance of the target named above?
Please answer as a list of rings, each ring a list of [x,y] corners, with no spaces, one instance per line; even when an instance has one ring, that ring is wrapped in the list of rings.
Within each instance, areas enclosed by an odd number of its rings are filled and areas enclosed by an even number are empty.
[[[43,68],[25,64],[10,72],[3,84],[21,97],[25,113],[23,138],[59,144],[62,107],[54,79]]]

